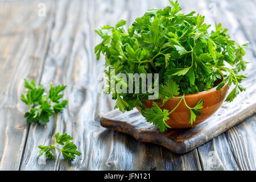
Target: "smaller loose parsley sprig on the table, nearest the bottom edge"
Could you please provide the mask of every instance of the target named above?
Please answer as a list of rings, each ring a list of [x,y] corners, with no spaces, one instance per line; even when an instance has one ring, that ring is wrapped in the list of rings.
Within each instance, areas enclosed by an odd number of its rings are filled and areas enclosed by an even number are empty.
[[[67,135],[67,133],[64,133],[63,135],[57,133],[55,135],[55,139],[55,143],[50,144],[49,146],[38,146],[38,148],[41,149],[39,151],[39,156],[45,155],[45,157],[48,158],[49,160],[54,160],[54,149],[60,150],[64,159],[75,159],[75,155],[81,155],[81,153],[77,151],[77,146],[73,142],[69,142],[69,140],[72,140],[73,137]],[[63,148],[57,148],[55,146],[56,144],[60,144],[61,146],[63,146]]]

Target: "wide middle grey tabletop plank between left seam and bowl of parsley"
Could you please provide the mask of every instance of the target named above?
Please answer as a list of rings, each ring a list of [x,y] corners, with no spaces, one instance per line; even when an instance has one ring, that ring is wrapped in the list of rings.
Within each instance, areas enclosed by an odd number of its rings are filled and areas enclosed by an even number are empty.
[[[168,4],[168,1],[164,1]],[[119,19],[133,21],[162,1],[57,1],[55,27],[42,83],[65,84],[68,108],[45,126],[32,125],[22,170],[198,170],[197,151],[176,155],[154,144],[137,142],[129,135],[106,130],[100,116],[113,109],[109,96],[99,94],[97,76],[104,58],[96,61],[94,46],[100,38],[94,29]],[[48,85],[49,86],[49,85]],[[58,155],[54,161],[38,158],[39,144],[49,144],[57,132],[71,134],[82,155],[73,161]]]

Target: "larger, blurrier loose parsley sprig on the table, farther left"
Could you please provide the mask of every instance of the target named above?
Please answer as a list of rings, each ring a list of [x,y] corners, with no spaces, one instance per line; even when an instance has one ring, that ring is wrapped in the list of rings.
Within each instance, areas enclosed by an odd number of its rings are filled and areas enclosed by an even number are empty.
[[[27,122],[39,121],[39,123],[47,123],[51,115],[63,110],[68,103],[66,100],[59,101],[63,97],[60,92],[65,89],[66,86],[64,85],[53,87],[51,82],[49,94],[46,94],[42,84],[36,88],[35,80],[30,81],[25,78],[24,87],[27,89],[27,93],[26,96],[24,94],[21,95],[21,100],[29,108],[29,111],[24,114]]]

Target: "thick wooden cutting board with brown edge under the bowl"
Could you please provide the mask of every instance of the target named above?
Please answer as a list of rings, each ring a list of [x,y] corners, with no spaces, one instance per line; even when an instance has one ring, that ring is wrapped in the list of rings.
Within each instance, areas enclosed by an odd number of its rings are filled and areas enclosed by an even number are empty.
[[[193,128],[168,129],[164,133],[160,133],[157,127],[146,122],[137,109],[126,113],[119,110],[110,111],[102,115],[101,126],[129,134],[141,142],[159,144],[177,154],[184,154],[256,113],[254,102],[246,102],[245,106],[241,110],[234,110],[232,107],[231,112],[230,108],[222,106],[212,117]]]

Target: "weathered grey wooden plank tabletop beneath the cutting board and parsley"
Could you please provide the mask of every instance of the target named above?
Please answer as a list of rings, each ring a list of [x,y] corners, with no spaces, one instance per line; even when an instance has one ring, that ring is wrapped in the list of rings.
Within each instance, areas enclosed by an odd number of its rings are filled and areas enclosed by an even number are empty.
[[[236,41],[249,40],[246,60],[255,63],[255,0],[180,3],[185,13],[196,10],[207,23],[221,22]],[[94,29],[119,19],[130,26],[144,11],[167,5],[167,0],[0,1],[0,169],[255,170],[255,115],[185,155],[100,126],[100,116],[113,110],[114,102],[97,92],[104,59],[96,61],[93,53],[100,42]],[[27,123],[28,108],[20,101],[23,78],[47,87],[50,81],[67,85],[67,109],[47,125]],[[57,132],[71,134],[82,155],[40,163],[37,146],[51,143]]]

